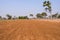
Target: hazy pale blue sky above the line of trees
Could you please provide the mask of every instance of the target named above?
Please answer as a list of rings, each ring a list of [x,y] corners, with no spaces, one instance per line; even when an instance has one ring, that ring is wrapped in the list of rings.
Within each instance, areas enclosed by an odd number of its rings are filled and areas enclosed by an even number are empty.
[[[29,16],[45,12],[43,2],[45,0],[0,0],[0,16],[10,14],[12,16]],[[60,13],[60,0],[49,0],[52,5],[52,13]]]

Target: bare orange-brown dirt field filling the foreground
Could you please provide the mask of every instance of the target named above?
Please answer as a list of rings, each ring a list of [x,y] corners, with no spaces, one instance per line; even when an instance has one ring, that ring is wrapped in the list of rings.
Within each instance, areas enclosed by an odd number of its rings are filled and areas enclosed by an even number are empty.
[[[0,20],[0,40],[60,40],[60,20]]]

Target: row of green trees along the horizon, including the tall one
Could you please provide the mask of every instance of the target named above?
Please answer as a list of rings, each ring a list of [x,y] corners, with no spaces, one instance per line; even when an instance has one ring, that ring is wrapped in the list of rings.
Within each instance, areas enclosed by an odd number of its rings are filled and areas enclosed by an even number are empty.
[[[43,7],[45,9],[45,12],[37,13],[35,15],[36,18],[39,18],[39,19],[56,19],[56,18],[60,18],[59,13],[52,14],[52,6],[51,6],[50,1],[44,1],[43,2]],[[48,16],[46,12],[49,12],[50,15]],[[6,16],[7,16],[7,18],[0,16],[0,19],[29,19],[28,16],[19,16],[19,17],[14,16],[14,17],[12,17],[9,14],[6,14]],[[29,14],[29,16],[31,16],[32,19],[36,19],[35,17],[33,17],[34,16],[33,14]]]

